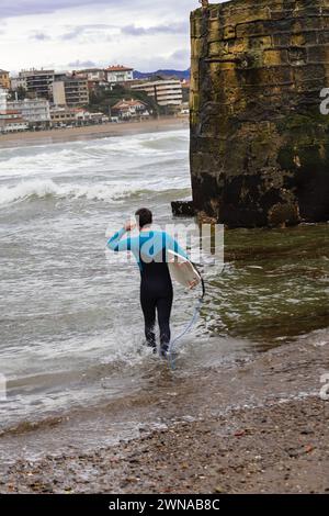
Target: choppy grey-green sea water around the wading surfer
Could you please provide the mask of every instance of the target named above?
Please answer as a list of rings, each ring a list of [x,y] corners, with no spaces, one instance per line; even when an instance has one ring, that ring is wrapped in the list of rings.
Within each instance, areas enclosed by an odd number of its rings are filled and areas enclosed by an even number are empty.
[[[105,244],[138,207],[164,226],[170,202],[190,195],[188,130],[0,146],[2,430],[110,400],[124,410],[160,378],[167,364],[141,346],[138,268]],[[299,336],[328,343],[328,224],[237,229],[225,244],[224,270],[203,271],[207,295],[175,378]],[[195,300],[175,287],[173,334]]]

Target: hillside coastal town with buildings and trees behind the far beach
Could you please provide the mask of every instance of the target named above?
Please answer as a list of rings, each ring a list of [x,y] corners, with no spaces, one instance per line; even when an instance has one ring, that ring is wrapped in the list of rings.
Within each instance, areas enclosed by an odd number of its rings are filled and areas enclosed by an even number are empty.
[[[189,115],[188,75],[112,65],[59,72],[0,69],[0,135]]]

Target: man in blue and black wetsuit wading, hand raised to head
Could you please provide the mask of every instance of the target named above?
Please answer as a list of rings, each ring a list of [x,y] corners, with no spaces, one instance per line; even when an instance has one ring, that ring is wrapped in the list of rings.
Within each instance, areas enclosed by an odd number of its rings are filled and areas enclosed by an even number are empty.
[[[160,328],[160,355],[167,356],[171,332],[170,314],[172,309],[173,290],[168,268],[168,250],[188,258],[185,251],[174,238],[166,232],[152,231],[152,213],[143,207],[136,213],[139,235],[123,239],[126,233],[136,227],[136,224],[127,222],[107,242],[107,247],[115,253],[132,251],[140,270],[140,305],[145,319],[145,337],[149,347],[157,351],[156,343],[156,315]]]

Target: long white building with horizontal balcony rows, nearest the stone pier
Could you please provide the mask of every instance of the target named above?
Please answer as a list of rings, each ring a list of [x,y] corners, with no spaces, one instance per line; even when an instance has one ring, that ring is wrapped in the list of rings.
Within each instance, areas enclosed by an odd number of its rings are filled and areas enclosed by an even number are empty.
[[[183,101],[183,90],[180,80],[156,80],[132,86],[132,90],[145,91],[152,97],[159,105],[181,105]]]

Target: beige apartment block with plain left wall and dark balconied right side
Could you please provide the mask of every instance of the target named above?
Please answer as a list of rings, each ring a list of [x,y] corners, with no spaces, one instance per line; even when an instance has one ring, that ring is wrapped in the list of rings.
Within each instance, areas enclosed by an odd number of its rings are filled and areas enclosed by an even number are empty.
[[[87,78],[66,76],[61,80],[55,80],[52,90],[55,105],[79,106],[89,103]]]

